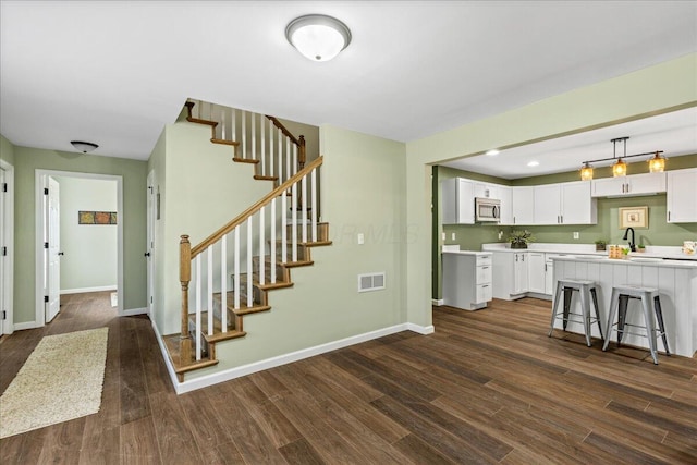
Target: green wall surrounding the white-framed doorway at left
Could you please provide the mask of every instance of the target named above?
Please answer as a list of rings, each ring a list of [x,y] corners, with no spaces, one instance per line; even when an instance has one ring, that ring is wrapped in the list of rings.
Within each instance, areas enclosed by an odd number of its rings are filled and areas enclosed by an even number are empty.
[[[3,146],[4,147],[4,146]],[[145,161],[14,147],[14,322],[35,319],[35,173],[37,169],[123,176],[124,310],[146,307]]]

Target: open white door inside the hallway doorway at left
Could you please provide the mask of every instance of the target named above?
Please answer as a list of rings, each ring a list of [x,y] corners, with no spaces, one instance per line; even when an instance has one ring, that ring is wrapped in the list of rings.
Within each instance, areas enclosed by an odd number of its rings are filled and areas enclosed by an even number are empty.
[[[60,184],[53,178],[48,179],[47,199],[47,238],[48,238],[48,270],[46,291],[46,322],[51,321],[61,310],[61,217],[60,217]]]

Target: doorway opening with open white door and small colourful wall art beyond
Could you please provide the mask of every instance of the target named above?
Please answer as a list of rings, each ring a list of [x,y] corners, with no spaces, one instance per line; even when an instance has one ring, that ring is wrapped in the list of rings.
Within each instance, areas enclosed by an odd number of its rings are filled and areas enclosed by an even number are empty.
[[[61,292],[113,291],[123,315],[122,184],[118,175],[36,170],[37,327],[60,311]]]

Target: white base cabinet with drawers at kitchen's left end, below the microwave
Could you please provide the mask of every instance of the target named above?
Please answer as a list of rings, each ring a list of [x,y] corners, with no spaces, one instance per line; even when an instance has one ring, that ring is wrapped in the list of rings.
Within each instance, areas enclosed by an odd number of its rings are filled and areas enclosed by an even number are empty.
[[[443,252],[443,303],[465,310],[485,308],[492,298],[491,253]]]

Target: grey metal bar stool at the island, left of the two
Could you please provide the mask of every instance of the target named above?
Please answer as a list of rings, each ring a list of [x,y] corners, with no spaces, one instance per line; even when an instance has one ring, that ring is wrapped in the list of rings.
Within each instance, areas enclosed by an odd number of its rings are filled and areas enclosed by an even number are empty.
[[[571,313],[571,297],[573,296],[574,291],[578,292],[580,297],[580,315]],[[559,299],[564,293],[564,306],[563,306],[563,315],[561,317],[557,316],[557,311],[559,308]],[[590,298],[592,297],[592,305],[596,307],[596,316],[590,316]],[[571,316],[582,317],[583,321],[578,321],[570,318]],[[600,331],[600,339],[604,340],[602,335],[602,326],[600,325],[600,313],[598,310],[598,295],[596,294],[596,283],[595,281],[586,281],[586,280],[559,280],[557,281],[557,290],[554,291],[554,306],[552,308],[552,320],[549,327],[548,336],[552,335],[552,331],[554,330],[554,320],[560,318],[563,321],[564,331],[566,331],[566,326],[568,321],[573,322],[583,322],[584,323],[584,332],[586,333],[586,344],[590,347],[590,326],[595,321],[598,323],[598,330]]]

